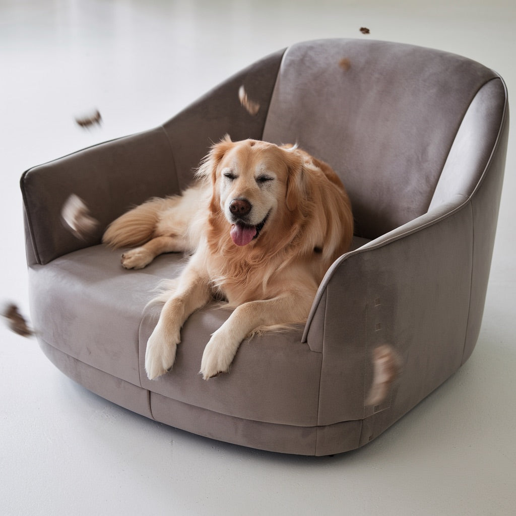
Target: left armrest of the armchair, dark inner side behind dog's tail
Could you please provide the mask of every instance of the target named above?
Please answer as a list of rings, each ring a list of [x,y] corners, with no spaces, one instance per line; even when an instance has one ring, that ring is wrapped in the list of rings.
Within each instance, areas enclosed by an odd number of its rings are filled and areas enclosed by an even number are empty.
[[[21,178],[29,264],[99,244],[107,224],[130,206],[178,191],[170,143],[163,128],[108,141],[27,170]],[[84,239],[63,224],[61,210],[74,193],[98,220]]]

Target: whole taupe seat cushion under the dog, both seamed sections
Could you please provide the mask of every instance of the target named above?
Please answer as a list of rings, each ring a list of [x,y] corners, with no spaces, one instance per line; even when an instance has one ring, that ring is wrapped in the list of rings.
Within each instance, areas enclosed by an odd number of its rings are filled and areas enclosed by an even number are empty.
[[[302,327],[244,341],[230,374],[202,379],[204,346],[231,313],[215,303],[187,320],[172,372],[149,380],[143,359],[160,306],[146,305],[159,281],[179,275],[185,261],[170,253],[144,269],[125,270],[119,256],[94,246],[30,268],[31,311],[42,341],[186,404],[255,421],[316,426],[322,355],[301,343]]]

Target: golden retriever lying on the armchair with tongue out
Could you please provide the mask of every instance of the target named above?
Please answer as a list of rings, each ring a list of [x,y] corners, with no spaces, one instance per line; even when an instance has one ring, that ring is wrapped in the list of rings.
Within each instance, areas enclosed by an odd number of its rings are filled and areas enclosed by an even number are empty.
[[[192,252],[149,337],[150,379],[173,366],[186,319],[210,300],[234,308],[213,333],[203,378],[227,373],[240,343],[271,327],[304,324],[322,277],[353,235],[346,190],[329,165],[296,146],[216,143],[181,196],[151,199],[112,222],[103,241],[135,247],[126,268],[160,253]]]

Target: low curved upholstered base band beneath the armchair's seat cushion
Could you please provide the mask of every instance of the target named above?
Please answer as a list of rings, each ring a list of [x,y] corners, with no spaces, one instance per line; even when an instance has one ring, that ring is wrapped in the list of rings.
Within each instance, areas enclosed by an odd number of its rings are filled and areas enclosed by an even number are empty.
[[[41,338],[46,357],[65,375],[116,405],[159,423],[202,437],[266,451],[293,455],[326,456],[343,453],[362,442],[363,421],[301,427],[251,421],[152,393],[116,378],[58,350]]]

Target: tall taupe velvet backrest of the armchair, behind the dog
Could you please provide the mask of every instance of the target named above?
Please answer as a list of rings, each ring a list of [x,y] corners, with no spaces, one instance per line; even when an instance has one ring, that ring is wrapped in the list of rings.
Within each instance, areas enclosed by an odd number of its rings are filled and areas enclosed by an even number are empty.
[[[495,72],[455,54],[309,41],[283,56],[263,139],[297,141],[328,162],[349,191],[356,234],[375,238],[457,193],[471,195],[504,102]]]

